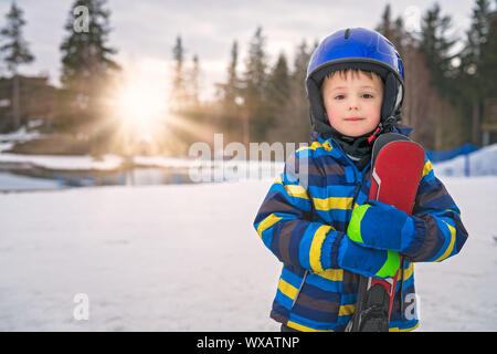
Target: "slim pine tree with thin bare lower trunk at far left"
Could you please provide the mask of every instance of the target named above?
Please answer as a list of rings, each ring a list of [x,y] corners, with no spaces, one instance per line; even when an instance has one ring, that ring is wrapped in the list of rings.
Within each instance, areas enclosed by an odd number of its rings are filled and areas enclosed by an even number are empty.
[[[25,25],[23,11],[12,2],[7,14],[7,25],[0,31],[0,35],[7,43],[0,46],[7,67],[12,74],[12,128],[17,129],[21,123],[20,106],[20,80],[18,75],[19,65],[31,63],[34,60],[28,42],[22,35],[22,27]]]

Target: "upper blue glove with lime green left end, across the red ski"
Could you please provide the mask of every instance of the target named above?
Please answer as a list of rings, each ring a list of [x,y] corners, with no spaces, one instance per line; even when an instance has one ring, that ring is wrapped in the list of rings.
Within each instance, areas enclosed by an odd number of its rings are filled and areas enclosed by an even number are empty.
[[[366,247],[409,256],[415,247],[414,219],[402,210],[378,200],[368,200],[352,211],[349,238]]]

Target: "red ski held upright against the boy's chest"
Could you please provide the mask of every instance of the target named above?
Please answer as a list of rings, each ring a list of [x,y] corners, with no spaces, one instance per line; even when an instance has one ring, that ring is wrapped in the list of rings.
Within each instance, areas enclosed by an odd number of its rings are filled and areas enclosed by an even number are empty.
[[[406,136],[387,133],[372,150],[369,198],[411,215],[423,175],[424,149]],[[388,332],[399,271],[393,278],[360,278],[356,313],[347,331]]]

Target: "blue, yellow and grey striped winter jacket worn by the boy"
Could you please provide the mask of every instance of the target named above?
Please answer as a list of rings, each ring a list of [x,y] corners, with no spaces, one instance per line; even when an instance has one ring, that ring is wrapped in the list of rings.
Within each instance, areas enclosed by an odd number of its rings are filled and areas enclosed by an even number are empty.
[[[406,131],[399,126],[396,133]],[[308,175],[302,174],[304,163]],[[359,275],[322,269],[320,254],[330,252],[330,243],[331,250],[338,247],[352,208],[368,199],[370,178],[370,166],[359,171],[332,138],[317,133],[310,146],[287,160],[254,221],[264,244],[283,262],[272,319],[299,331],[345,330],[356,310]],[[467,238],[459,209],[427,159],[413,216],[424,241],[414,257],[404,257],[390,331],[410,331],[419,324],[413,263],[447,259],[459,252]]]

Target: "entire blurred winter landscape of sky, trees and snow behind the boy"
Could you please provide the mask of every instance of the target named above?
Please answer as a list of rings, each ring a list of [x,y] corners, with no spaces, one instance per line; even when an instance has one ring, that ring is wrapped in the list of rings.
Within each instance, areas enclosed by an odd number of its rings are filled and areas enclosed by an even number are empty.
[[[425,329],[496,330],[496,290],[485,281],[497,274],[496,9],[1,0],[0,330],[277,330],[267,314],[279,264],[252,229],[271,181],[191,185],[189,153],[200,142],[208,160],[225,162],[230,143],[247,152],[308,142],[309,58],[352,27],[399,50],[403,124],[479,237],[467,248],[472,266],[420,266]],[[269,167],[275,177],[282,165]],[[78,293],[89,321],[73,315]]]

